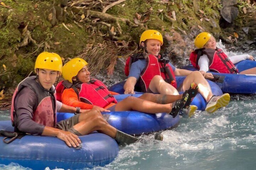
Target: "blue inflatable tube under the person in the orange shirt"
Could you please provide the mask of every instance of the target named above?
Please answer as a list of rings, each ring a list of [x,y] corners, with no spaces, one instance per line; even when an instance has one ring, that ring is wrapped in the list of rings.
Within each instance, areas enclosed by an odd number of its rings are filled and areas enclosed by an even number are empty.
[[[154,131],[170,130],[179,125],[179,116],[173,118],[166,113],[147,114],[137,111],[102,112],[107,122],[131,135],[152,133]],[[74,116],[72,113],[58,113],[57,120]]]

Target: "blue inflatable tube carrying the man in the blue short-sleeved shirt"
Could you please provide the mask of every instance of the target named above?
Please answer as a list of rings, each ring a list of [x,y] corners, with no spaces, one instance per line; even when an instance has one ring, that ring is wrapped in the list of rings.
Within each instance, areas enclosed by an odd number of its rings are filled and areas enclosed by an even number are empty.
[[[177,76],[176,77],[177,87],[179,87],[181,85],[181,83],[184,81],[185,78],[186,78],[185,76]],[[212,82],[210,80],[207,80],[207,82],[210,84],[213,95],[219,96],[219,95],[223,94],[218,85],[216,85],[214,82]],[[114,97],[117,99],[117,101],[123,100],[124,98],[131,96],[131,95],[135,96],[135,97],[139,97],[140,95],[143,94],[141,92],[136,92],[136,94],[123,94],[124,93],[124,89],[123,89],[124,83],[125,83],[125,81],[117,83],[109,88],[110,91],[119,93],[119,95],[114,95]],[[194,97],[191,104],[196,105],[198,107],[198,110],[204,110],[206,107],[206,101],[204,100],[204,98],[201,94],[197,94],[196,97]]]

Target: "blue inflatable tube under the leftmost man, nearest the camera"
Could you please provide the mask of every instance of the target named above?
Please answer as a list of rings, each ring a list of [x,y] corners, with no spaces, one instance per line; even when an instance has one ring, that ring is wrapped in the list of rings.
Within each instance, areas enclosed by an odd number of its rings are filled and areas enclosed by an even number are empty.
[[[0,130],[13,131],[11,121],[0,121]],[[33,170],[83,169],[109,164],[118,154],[116,141],[105,134],[96,132],[79,138],[82,148],[76,150],[56,137],[25,135],[9,144],[0,137],[0,164],[14,162]]]

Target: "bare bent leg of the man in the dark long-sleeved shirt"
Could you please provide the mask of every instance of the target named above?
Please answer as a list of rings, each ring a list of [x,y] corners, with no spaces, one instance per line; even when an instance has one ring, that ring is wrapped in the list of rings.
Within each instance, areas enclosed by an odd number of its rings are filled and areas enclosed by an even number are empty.
[[[74,129],[82,135],[99,131],[115,138],[117,134],[117,129],[108,124],[98,110],[90,110],[89,112],[81,113],[79,123],[74,125]]]

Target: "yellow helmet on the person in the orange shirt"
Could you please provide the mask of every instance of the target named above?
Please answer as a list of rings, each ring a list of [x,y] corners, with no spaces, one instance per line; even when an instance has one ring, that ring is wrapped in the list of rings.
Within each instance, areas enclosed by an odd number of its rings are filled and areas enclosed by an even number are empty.
[[[82,58],[73,58],[63,66],[63,78],[72,83],[72,77],[75,77],[78,72],[87,64],[88,63]]]

